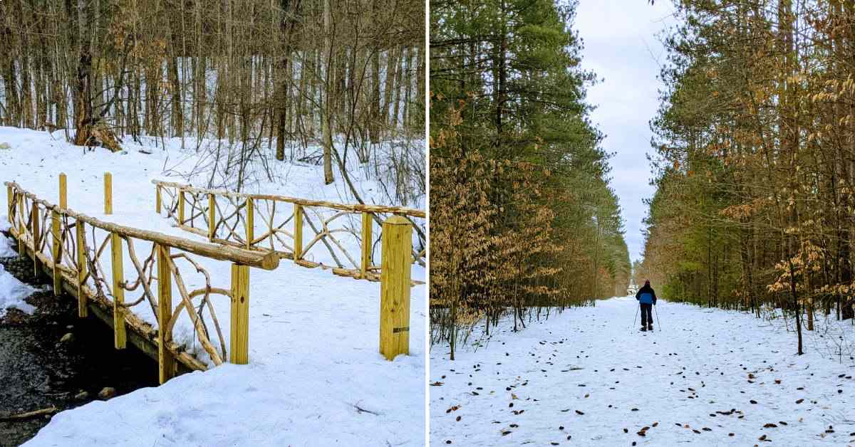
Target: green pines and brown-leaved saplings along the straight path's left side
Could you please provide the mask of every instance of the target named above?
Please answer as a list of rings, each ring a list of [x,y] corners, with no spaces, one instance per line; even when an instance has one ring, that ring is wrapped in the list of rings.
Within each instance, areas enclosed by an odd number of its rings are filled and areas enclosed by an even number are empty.
[[[433,343],[622,295],[630,266],[609,155],[588,118],[576,2],[434,0]]]

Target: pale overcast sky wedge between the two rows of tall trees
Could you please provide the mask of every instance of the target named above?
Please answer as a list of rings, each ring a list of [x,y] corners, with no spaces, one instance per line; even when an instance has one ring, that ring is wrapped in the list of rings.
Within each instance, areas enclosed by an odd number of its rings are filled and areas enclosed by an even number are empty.
[[[580,0],[576,14],[575,29],[585,43],[582,67],[602,79],[588,90],[588,102],[597,106],[592,119],[606,136],[604,149],[615,153],[611,185],[620,198],[632,260],[644,250],[641,200],[654,191],[646,153],[652,151],[648,121],[656,114],[657,74],[665,62],[658,34],[674,24],[673,11],[669,0],[655,6],[647,0]]]

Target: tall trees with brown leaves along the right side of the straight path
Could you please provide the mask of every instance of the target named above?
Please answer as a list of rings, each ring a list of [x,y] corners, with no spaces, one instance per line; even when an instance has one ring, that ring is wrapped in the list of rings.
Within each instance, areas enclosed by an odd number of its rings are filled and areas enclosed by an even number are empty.
[[[855,306],[855,2],[675,6],[639,276],[669,300],[782,309],[800,354],[816,312]]]

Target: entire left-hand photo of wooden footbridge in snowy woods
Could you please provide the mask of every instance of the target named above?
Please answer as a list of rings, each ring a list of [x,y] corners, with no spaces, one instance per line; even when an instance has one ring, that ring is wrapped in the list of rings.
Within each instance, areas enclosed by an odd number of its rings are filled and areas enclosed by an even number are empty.
[[[425,14],[0,0],[0,445],[423,445]]]

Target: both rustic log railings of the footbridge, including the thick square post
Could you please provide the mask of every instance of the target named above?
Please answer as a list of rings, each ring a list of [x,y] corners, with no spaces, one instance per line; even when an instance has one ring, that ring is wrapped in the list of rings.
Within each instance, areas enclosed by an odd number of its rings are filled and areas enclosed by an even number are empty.
[[[38,198],[14,182],[5,185],[9,233],[17,241],[19,254],[32,258],[37,275],[52,279],[57,296],[65,291],[77,300],[81,318],[91,313],[111,326],[115,349],[125,349],[130,340],[153,357],[161,383],[177,373],[207,368],[206,362],[173,338],[175,323],[184,312],[192,323],[195,341],[211,363],[249,362],[250,268],[274,270],[282,258],[304,267],[329,268],[355,279],[379,280],[380,353],[389,360],[398,354],[409,354],[410,266],[424,262],[425,253],[423,249],[413,250],[412,223],[424,218],[420,210],[199,190],[156,182],[156,211],[161,211],[164,195],[171,197],[164,207],[167,215],[179,228],[209,239],[200,242],[117,225],[68,209],[65,174],[59,176],[58,204]],[[207,199],[205,207],[199,200],[202,195]],[[187,197],[190,215],[186,215]],[[270,203],[267,214],[260,212],[261,203]],[[292,208],[282,221],[277,221],[277,203],[280,210],[282,203]],[[311,209],[315,220],[305,217],[306,209]],[[328,210],[334,212],[330,214]],[[111,213],[112,178],[105,174],[104,214]],[[332,225],[357,213],[363,222],[359,232]],[[257,215],[262,216],[262,227],[266,228],[259,236],[255,235]],[[201,216],[205,216],[206,232],[196,226]],[[315,233],[308,244],[303,244],[304,222]],[[289,223],[292,231],[284,229]],[[372,237],[374,224],[380,224],[379,238]],[[360,262],[347,250],[352,244],[336,237],[339,233],[361,239]],[[422,244],[423,234],[418,240]],[[372,262],[375,243],[381,245],[380,266]],[[146,247],[144,258],[136,251],[141,245]],[[313,247],[318,246],[329,250],[332,265],[307,259]],[[230,262],[230,281],[213,277],[203,268],[200,258]],[[342,258],[351,265],[344,264]],[[126,277],[126,261],[133,265],[135,275],[131,278]],[[186,275],[190,274],[201,275],[204,285],[189,290]],[[222,282],[227,284],[221,285]],[[139,297],[126,301],[126,292],[134,291]],[[214,295],[228,297],[231,303],[228,347],[210,299]],[[133,311],[138,306],[150,308],[156,327]]]

